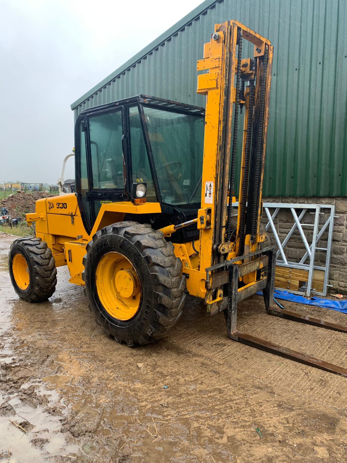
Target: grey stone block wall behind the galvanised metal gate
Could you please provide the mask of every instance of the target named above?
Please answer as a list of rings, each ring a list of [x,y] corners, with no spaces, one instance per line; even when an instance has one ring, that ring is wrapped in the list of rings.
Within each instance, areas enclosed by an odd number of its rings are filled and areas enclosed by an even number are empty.
[[[331,250],[330,260],[330,272],[329,272],[329,284],[332,287],[330,291],[347,294],[347,197],[264,197],[264,202],[278,202],[278,203],[299,203],[299,204],[335,204],[335,221],[334,221],[334,232],[333,232],[333,244]],[[302,222],[313,224],[314,214],[310,214],[308,211]],[[324,214],[320,216],[320,228],[322,223],[328,218],[328,210],[322,211]],[[297,215],[299,212],[297,211]],[[263,213],[263,223],[267,223],[266,214]],[[290,210],[280,211],[279,215],[274,220],[279,238],[283,242],[285,236],[288,234],[294,219]],[[303,227],[305,235],[307,236],[309,243],[312,240],[313,227]],[[323,233],[323,236],[317,246],[321,248],[327,247],[328,231]],[[270,236],[270,240],[275,244],[273,236]],[[304,256],[305,247],[300,237],[298,230],[295,230],[291,239],[288,241],[285,249],[285,255],[288,260],[293,262],[299,262]],[[316,251],[316,263],[323,264],[325,262],[326,253],[323,251]],[[306,262],[308,263],[308,261]]]

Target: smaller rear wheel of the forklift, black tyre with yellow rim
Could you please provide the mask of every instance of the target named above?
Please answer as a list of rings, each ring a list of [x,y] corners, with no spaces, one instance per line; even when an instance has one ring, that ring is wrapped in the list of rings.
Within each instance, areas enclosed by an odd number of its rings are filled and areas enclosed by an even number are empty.
[[[45,241],[18,238],[11,244],[8,267],[14,290],[28,302],[47,300],[56,290],[56,262]]]

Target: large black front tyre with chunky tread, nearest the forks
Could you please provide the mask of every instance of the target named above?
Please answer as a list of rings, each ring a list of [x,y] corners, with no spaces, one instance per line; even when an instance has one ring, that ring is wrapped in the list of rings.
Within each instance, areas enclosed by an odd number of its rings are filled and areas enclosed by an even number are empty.
[[[134,300],[138,298],[136,312],[128,319],[112,316],[114,312],[106,310],[100,300],[99,279],[106,279],[112,274],[111,279],[117,281],[119,274],[117,264],[114,273],[99,271],[100,265],[112,255],[120,256],[125,259],[123,262],[132,266],[128,270],[133,275],[136,273],[135,279],[140,288],[138,295],[132,297]],[[125,342],[129,346],[151,343],[162,338],[180,318],[186,288],[182,263],[174,255],[173,244],[149,224],[126,221],[99,230],[87,245],[83,263],[89,308],[95,314],[97,323],[104,327],[105,333],[112,335],[119,343]],[[114,309],[117,312],[117,307]]]

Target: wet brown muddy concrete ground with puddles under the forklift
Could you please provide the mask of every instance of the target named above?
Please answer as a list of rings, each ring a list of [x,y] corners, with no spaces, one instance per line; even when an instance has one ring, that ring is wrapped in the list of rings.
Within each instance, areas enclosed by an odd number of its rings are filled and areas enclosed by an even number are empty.
[[[119,345],[66,268],[49,302],[19,300],[12,239],[0,236],[0,462],[347,461],[346,378],[229,340],[223,314],[192,297],[166,339]],[[239,314],[243,331],[347,366],[346,334],[266,315],[260,296]]]

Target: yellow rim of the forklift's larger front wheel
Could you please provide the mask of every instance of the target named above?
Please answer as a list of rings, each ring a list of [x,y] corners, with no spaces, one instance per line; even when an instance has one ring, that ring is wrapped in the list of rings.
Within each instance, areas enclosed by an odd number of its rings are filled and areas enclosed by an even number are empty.
[[[95,272],[96,289],[105,311],[118,320],[130,320],[141,302],[141,283],[129,259],[108,252]]]

